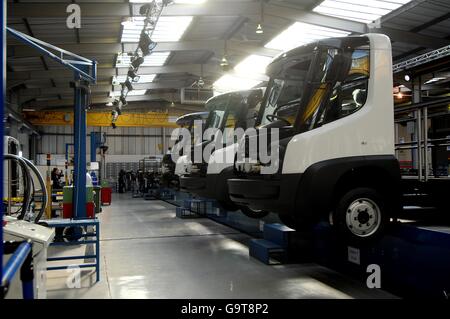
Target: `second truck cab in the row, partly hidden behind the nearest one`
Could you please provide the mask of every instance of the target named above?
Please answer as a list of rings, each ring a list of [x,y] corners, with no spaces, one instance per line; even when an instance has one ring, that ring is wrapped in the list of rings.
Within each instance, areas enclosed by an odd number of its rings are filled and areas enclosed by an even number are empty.
[[[202,157],[201,162],[191,164],[188,172],[180,178],[181,190],[216,199],[228,210],[239,208],[230,201],[227,186],[227,180],[233,177],[237,148],[233,131],[245,131],[248,127],[255,126],[262,97],[262,89],[252,89],[225,93],[207,102],[206,107],[210,113],[206,128],[220,130],[223,139],[219,143],[216,142],[211,157]],[[209,143],[211,140],[206,140],[194,147],[203,151]]]

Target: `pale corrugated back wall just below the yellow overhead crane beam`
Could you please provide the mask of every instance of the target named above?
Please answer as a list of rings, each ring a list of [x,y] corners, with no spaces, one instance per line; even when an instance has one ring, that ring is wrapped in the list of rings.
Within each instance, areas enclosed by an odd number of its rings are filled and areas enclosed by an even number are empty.
[[[88,134],[95,132],[106,133],[106,145],[109,155],[160,155],[173,144],[170,141],[171,128],[141,128],[141,127],[88,127]],[[43,132],[38,141],[37,153],[64,154],[66,143],[73,143],[73,129],[71,126],[43,126]],[[163,139],[163,130],[165,138]],[[90,138],[86,137],[87,154],[90,153]]]

